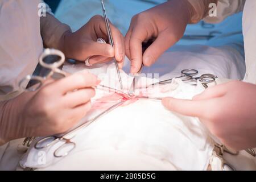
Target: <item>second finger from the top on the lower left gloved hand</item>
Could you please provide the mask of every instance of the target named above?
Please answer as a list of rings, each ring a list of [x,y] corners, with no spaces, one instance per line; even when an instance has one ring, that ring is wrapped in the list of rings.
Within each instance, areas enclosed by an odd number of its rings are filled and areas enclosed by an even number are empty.
[[[64,96],[64,103],[69,107],[84,105],[95,96],[95,90],[92,88],[80,89],[75,92],[69,92]]]

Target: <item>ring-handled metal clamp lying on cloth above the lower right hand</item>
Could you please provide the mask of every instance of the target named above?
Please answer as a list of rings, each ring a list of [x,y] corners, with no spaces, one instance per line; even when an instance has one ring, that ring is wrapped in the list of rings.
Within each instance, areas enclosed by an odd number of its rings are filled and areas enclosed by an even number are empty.
[[[197,80],[199,80],[205,88],[208,88],[207,84],[214,82],[216,80],[216,78],[218,78],[216,75],[213,75],[213,74],[204,74],[199,77],[194,77],[198,73],[199,72],[196,69],[183,69],[183,71],[181,71],[181,76],[178,76],[175,78],[183,78],[181,80],[185,81],[185,82],[197,82]],[[156,82],[154,84],[148,85],[147,88],[150,86],[155,86],[155,85],[170,84],[173,79],[174,78],[170,78],[168,80]],[[195,85],[195,84],[193,84],[193,85]]]

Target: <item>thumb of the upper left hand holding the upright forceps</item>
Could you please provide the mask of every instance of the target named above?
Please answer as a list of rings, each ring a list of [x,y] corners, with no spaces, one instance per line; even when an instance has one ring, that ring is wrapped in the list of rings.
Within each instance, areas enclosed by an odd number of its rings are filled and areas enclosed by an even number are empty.
[[[88,49],[90,56],[114,57],[115,55],[114,48],[110,44],[92,42]]]

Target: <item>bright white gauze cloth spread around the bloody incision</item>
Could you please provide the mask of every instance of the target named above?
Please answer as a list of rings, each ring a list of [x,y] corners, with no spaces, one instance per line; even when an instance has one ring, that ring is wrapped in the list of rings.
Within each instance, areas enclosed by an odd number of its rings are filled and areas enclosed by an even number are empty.
[[[75,67],[73,66],[73,69]],[[105,67],[108,74],[114,72],[113,64]],[[72,72],[72,66],[64,69]],[[122,78],[123,83],[127,83],[125,88],[129,88],[129,80],[132,78],[125,74],[122,74]],[[108,77],[105,76],[102,82],[106,80]],[[151,91],[154,92],[150,91],[147,94],[155,97],[171,96],[191,99],[203,90],[200,84],[191,86],[181,80],[174,80],[171,85],[152,89]],[[102,90],[97,90],[96,93],[94,101],[109,95]],[[101,109],[96,112],[99,110]],[[95,111],[92,111],[86,119],[93,114]],[[53,156],[53,152],[63,142],[36,150],[34,144],[37,140],[32,143],[31,148],[20,161],[20,166],[23,168],[64,169],[63,167],[66,166],[66,169],[82,170],[92,169],[90,168],[92,166],[93,169],[130,169],[133,166],[133,169],[148,169],[148,163],[151,163],[150,169],[204,170],[208,166],[213,149],[208,130],[199,119],[172,113],[159,101],[152,100],[138,100],[130,105],[120,106],[97,119],[71,139],[76,143],[76,148],[65,158]],[[104,154],[99,155],[101,152]],[[45,154],[45,160],[42,161],[43,154]],[[101,160],[98,160],[97,155]],[[122,161],[122,164],[119,163],[120,160],[107,160],[113,158],[113,155],[115,159],[129,158],[129,160]],[[102,158],[102,156],[105,157]],[[138,158],[138,156],[141,157]],[[71,160],[73,163],[70,165]],[[134,164],[136,161],[138,165]],[[77,164],[77,162],[81,163]],[[115,168],[117,166],[118,168]]]

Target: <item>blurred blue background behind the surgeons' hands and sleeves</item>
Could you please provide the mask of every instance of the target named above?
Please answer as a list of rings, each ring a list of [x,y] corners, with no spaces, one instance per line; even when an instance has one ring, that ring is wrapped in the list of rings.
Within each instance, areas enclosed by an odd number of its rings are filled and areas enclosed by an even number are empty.
[[[56,18],[78,30],[96,14],[102,15],[100,0],[46,0]],[[135,15],[166,0],[105,0],[111,22],[126,34]],[[178,18],[177,18],[178,19]],[[224,22],[208,24],[203,21],[188,25],[183,39],[177,45],[204,44],[208,46],[243,46],[242,13],[230,16]]]

